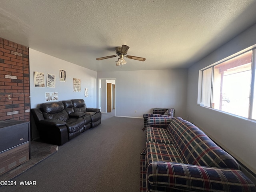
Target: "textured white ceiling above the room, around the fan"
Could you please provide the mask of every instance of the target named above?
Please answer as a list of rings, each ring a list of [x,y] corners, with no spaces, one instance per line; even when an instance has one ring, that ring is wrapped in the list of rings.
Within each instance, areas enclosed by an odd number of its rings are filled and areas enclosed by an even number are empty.
[[[256,23],[256,0],[0,0],[0,37],[94,71],[186,68]],[[128,55],[96,58],[130,46]]]

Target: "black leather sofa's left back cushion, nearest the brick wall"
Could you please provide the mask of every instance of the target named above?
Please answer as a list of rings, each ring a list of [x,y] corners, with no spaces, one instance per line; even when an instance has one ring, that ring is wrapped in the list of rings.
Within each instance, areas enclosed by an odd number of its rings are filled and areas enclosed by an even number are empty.
[[[68,120],[68,113],[64,110],[64,105],[61,101],[42,103],[40,110],[43,113],[45,119],[55,119],[66,121]]]

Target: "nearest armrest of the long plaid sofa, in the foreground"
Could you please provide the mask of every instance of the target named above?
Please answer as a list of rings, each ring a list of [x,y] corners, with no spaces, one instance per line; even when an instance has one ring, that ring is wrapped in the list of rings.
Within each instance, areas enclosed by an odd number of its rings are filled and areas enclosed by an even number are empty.
[[[256,191],[240,170],[172,162],[151,162],[147,179],[152,186],[192,191]]]

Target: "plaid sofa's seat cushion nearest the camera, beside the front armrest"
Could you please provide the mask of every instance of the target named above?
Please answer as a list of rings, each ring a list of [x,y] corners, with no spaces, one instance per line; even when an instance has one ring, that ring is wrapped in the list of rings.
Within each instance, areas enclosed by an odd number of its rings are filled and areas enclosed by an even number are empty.
[[[183,163],[180,155],[172,144],[146,142],[146,166],[154,161]]]

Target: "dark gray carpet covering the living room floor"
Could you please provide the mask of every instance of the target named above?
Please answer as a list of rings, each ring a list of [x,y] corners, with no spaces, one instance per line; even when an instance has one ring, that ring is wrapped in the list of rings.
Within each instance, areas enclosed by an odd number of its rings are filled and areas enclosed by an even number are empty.
[[[58,152],[14,178],[5,192],[139,192],[143,119],[102,114],[102,124],[59,146]],[[36,186],[20,186],[36,181]]]

